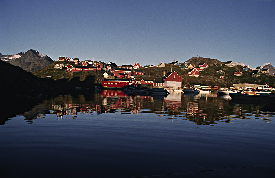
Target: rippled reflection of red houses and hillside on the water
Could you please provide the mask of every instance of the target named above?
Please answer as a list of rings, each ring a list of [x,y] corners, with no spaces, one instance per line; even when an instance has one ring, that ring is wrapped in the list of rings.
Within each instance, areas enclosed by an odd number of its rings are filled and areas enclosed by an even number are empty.
[[[188,120],[198,125],[213,125],[231,122],[234,119],[263,119],[270,122],[274,110],[264,105],[232,103],[227,95],[218,96],[216,92],[201,94],[181,94],[171,92],[167,97],[147,95],[127,95],[123,91],[103,90],[91,97],[85,95],[58,96],[47,99],[28,112],[22,113],[28,123],[55,113],[58,119],[71,117],[77,119],[80,113],[155,113],[170,115],[172,119]],[[272,107],[273,108],[273,107]],[[92,116],[91,116],[92,117]]]

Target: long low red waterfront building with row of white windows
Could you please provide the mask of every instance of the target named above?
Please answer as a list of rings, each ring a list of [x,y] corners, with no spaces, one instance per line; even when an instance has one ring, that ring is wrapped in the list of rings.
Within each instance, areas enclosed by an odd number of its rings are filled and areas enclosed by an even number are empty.
[[[103,87],[125,87],[125,86],[138,86],[138,81],[135,79],[104,79],[101,81]]]

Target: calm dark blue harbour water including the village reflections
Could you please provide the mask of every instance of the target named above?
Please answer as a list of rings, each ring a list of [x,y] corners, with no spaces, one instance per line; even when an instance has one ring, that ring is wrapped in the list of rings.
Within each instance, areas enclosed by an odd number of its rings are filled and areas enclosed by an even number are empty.
[[[48,98],[0,123],[0,177],[274,177],[274,123],[217,93]]]

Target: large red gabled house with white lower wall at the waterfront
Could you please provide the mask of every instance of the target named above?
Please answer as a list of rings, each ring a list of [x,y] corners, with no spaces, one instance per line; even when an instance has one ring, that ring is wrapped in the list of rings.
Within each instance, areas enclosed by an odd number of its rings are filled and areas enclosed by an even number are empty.
[[[164,85],[168,87],[181,87],[182,77],[177,72],[164,73]]]

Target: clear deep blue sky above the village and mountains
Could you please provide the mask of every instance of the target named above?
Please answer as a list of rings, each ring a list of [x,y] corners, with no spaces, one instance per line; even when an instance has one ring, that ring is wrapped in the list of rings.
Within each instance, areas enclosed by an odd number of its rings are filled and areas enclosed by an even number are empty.
[[[275,1],[2,0],[2,55],[123,64],[191,57],[275,66]]]

